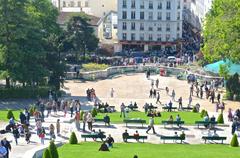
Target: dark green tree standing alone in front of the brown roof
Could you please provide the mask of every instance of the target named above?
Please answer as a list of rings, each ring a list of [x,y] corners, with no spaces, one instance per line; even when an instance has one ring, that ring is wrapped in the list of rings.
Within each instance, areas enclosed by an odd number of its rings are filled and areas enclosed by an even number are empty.
[[[85,14],[74,15],[67,24],[67,38],[71,41],[73,49],[82,52],[85,59],[87,51],[95,51],[98,47],[98,38],[88,23],[89,18]],[[78,53],[76,54],[78,58]]]

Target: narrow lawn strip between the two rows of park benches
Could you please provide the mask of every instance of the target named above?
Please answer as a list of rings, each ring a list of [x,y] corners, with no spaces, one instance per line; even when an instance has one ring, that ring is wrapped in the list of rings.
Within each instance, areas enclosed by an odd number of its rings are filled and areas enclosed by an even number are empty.
[[[161,112],[161,117],[155,117],[155,124],[160,124],[162,120],[168,120],[170,115],[173,115],[175,119],[177,114],[180,115],[185,124],[194,124],[195,121],[202,120],[200,113],[193,112]],[[120,112],[108,113],[112,123],[123,123],[123,118],[120,118]],[[96,118],[103,118],[104,113],[98,113]],[[149,117],[144,112],[130,112],[127,114],[127,118],[141,118],[148,122]]]

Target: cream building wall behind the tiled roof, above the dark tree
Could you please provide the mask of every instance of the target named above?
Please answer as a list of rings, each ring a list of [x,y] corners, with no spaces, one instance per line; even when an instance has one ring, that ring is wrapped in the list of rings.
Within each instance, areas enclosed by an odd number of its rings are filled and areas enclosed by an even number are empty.
[[[85,12],[103,17],[110,11],[117,11],[117,0],[52,0],[61,12]]]

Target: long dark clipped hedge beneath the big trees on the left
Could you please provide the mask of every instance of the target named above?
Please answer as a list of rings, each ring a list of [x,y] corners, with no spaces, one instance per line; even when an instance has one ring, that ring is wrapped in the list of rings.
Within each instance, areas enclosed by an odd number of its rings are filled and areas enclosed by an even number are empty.
[[[47,97],[50,87],[15,87],[1,88],[1,99],[29,99],[37,97]]]

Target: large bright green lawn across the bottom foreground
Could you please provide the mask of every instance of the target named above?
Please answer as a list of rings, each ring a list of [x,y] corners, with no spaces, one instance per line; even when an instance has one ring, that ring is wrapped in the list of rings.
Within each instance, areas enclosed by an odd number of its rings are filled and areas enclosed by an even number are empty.
[[[239,148],[216,144],[114,144],[110,152],[99,152],[100,143],[66,144],[58,149],[60,158],[236,158]]]

